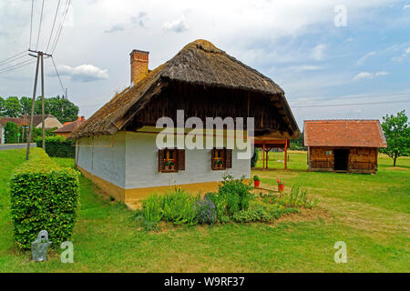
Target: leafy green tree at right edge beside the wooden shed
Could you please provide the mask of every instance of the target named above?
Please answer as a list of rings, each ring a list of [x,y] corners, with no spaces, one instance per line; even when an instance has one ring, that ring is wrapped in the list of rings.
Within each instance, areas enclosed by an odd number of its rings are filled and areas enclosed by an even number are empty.
[[[399,156],[410,154],[410,127],[405,110],[397,115],[385,115],[382,128],[384,131],[386,148],[380,148],[380,152],[393,158],[393,166]]]

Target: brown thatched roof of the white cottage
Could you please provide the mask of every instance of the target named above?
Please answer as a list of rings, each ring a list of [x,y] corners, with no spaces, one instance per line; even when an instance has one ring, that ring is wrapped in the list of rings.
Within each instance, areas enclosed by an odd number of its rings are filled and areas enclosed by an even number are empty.
[[[210,42],[197,40],[186,45],[165,64],[150,71],[137,85],[129,86],[115,95],[71,133],[69,138],[115,134],[129,121],[129,118],[125,117],[128,110],[133,110],[132,116],[138,114],[151,97],[159,94],[160,89],[168,85],[169,81],[235,88],[263,95],[281,95],[284,99],[282,88],[270,78],[242,64]],[[287,106],[285,110],[291,112],[286,101],[284,104]],[[296,125],[292,113],[288,117],[292,119],[291,123]]]

